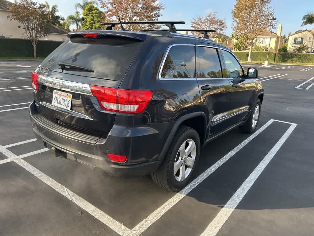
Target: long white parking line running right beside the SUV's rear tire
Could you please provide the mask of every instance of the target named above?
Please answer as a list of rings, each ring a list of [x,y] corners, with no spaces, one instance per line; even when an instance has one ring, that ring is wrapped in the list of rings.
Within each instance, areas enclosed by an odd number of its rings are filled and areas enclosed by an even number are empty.
[[[153,213],[151,213],[146,219],[142,222],[138,223],[132,231],[143,233],[149,226],[151,226],[154,222],[156,222],[161,216],[163,216],[171,207],[173,207],[177,202],[179,202],[185,195],[191,192],[198,184],[200,184],[204,179],[210,176],[214,171],[216,171],[219,166],[223,165],[227,160],[229,160],[233,155],[235,155],[238,151],[240,151],[246,144],[252,141],[257,135],[259,135],[263,130],[265,130],[274,120],[269,120],[265,125],[259,128],[255,133],[253,133],[250,137],[232,149],[228,154],[226,154],[223,158],[218,160],[213,166],[210,166],[206,171],[200,174],[197,178],[195,178],[191,183],[187,185],[187,187],[183,188],[180,192],[174,195],[171,199],[166,201],[162,206],[156,209]]]

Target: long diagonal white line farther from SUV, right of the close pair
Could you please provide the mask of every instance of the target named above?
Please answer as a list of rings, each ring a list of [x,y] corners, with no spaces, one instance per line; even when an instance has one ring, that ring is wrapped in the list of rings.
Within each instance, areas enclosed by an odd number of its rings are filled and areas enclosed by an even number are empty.
[[[249,177],[242,183],[241,187],[233,194],[227,204],[223,209],[219,211],[217,216],[208,227],[204,230],[201,236],[215,236],[221,227],[225,224],[231,213],[236,209],[236,206],[243,199],[247,191],[252,187],[253,183],[257,180],[259,175],[268,165],[268,163],[273,159],[274,155],[278,152],[282,144],[288,139],[290,134],[293,132],[297,124],[291,124],[289,129],[284,133],[284,135],[279,139],[279,141],[273,146],[273,148],[268,152],[264,159],[258,164],[254,171]]]

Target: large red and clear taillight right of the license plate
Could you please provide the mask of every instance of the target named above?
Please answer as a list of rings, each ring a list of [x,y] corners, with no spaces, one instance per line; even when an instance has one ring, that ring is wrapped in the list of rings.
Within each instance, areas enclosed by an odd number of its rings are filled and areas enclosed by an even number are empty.
[[[153,92],[149,90],[126,90],[95,85],[89,87],[103,109],[123,113],[142,113],[153,96]]]

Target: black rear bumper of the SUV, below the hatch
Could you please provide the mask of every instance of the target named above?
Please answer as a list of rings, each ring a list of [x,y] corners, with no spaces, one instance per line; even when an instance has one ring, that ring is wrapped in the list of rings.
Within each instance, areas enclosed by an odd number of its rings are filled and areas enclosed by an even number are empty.
[[[88,137],[54,122],[49,123],[38,113],[34,101],[29,109],[35,137],[46,147],[60,150],[68,159],[99,167],[112,176],[144,176],[156,170],[161,164],[157,159],[168,135],[164,131],[171,130],[169,126],[172,125],[114,125],[106,138]],[[126,155],[127,161],[113,162],[107,153]]]

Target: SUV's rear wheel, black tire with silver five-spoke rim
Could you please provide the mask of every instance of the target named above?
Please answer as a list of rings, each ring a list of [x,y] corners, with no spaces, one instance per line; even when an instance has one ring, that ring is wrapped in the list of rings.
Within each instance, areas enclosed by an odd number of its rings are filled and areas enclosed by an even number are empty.
[[[163,162],[151,174],[153,181],[160,187],[173,192],[178,192],[187,186],[198,164],[201,149],[200,143],[198,132],[195,129],[188,126],[180,126]],[[174,173],[175,166],[177,169],[176,173]],[[187,176],[183,176],[182,173]]]

